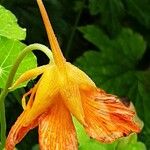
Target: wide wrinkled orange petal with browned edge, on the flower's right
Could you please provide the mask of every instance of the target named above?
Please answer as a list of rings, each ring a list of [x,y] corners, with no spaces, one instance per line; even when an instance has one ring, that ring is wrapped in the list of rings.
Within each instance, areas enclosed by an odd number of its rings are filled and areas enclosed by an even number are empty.
[[[140,132],[134,121],[135,112],[116,96],[102,90],[82,93],[87,133],[102,142],[113,142],[131,132]]]

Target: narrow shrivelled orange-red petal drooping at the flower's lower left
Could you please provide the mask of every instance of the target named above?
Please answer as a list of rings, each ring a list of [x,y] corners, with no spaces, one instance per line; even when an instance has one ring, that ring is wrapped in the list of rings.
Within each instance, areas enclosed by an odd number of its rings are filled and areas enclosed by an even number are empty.
[[[24,125],[24,122],[28,117],[28,111],[29,109],[23,111],[23,113],[18,117],[15,124],[12,126],[6,140],[6,150],[14,150],[15,145],[23,139],[27,132],[37,126],[38,118],[36,118],[33,121],[30,121],[28,126]]]

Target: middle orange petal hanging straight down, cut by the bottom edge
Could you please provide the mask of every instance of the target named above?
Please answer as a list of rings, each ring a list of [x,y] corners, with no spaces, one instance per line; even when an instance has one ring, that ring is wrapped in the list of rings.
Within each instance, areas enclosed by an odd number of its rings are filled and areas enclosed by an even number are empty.
[[[77,150],[77,139],[71,115],[58,99],[39,124],[41,150]]]

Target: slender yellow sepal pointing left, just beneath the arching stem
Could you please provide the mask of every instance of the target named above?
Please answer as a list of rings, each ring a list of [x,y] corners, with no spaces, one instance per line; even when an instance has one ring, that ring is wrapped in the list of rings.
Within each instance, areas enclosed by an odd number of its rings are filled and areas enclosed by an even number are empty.
[[[15,89],[19,84],[37,77],[38,75],[42,74],[48,68],[48,66],[49,65],[43,65],[26,71],[19,77],[19,79],[9,89],[10,90]]]

